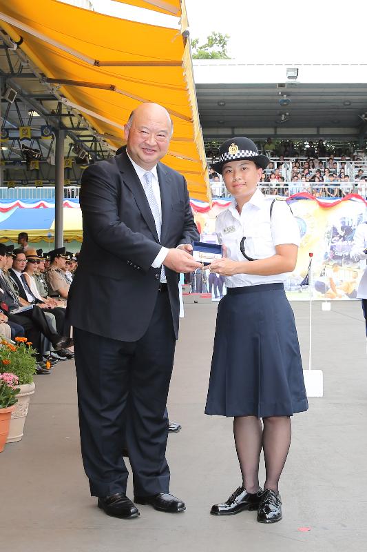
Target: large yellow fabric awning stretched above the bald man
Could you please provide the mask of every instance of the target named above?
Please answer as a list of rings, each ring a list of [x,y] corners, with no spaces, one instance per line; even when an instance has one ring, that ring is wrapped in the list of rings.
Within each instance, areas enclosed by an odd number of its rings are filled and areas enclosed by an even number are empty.
[[[130,3],[143,7],[149,2]],[[166,3],[185,11],[183,0]],[[165,106],[174,136],[162,161],[186,177],[191,197],[209,199],[189,41],[180,31],[56,0],[0,0],[0,26],[13,41],[23,39],[19,48],[48,83],[61,85],[66,105],[82,112],[116,148],[123,144],[129,113],[140,102]]]

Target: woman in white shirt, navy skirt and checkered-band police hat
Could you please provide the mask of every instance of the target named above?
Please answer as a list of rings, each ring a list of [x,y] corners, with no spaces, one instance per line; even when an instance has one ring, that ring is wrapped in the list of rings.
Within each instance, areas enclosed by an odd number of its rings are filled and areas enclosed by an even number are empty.
[[[215,170],[233,197],[216,221],[224,276],[205,413],[234,417],[242,485],[211,513],[258,510],[258,522],[282,519],[278,483],[291,444],[291,416],[308,408],[293,311],[284,293],[297,262],[300,233],[286,201],[262,195],[257,183],[269,159],[248,138],[220,147]],[[262,422],[261,422],[262,420]],[[266,480],[259,486],[260,452]]]

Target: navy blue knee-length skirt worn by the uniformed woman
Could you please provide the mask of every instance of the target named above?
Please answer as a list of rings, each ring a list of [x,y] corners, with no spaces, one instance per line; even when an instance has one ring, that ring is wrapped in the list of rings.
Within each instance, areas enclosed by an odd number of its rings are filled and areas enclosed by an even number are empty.
[[[206,414],[291,416],[308,409],[283,284],[228,288],[218,306]]]

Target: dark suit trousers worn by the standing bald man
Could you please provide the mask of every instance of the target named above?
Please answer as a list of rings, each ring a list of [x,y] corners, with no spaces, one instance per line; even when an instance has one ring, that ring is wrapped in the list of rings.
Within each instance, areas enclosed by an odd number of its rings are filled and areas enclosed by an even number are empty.
[[[126,492],[125,414],[134,493],[149,496],[169,491],[164,413],[175,345],[167,292],[158,292],[147,331],[136,342],[74,328],[81,451],[92,495]]]

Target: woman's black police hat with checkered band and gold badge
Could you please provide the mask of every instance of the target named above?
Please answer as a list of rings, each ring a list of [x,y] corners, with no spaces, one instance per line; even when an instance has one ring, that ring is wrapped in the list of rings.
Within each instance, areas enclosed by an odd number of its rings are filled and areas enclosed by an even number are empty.
[[[223,142],[219,148],[219,161],[212,163],[211,166],[214,170],[221,173],[224,164],[229,163],[229,161],[239,161],[240,159],[253,161],[261,168],[266,168],[269,164],[269,157],[260,154],[256,144],[252,140],[238,137]]]

